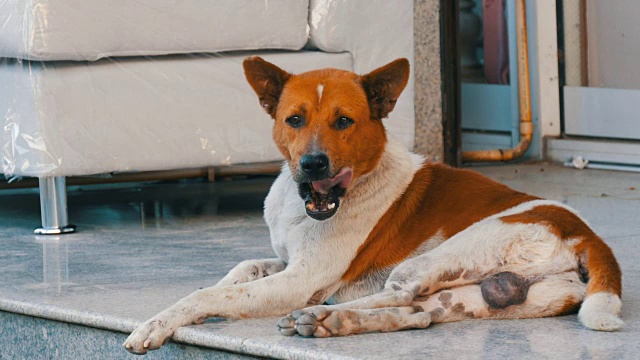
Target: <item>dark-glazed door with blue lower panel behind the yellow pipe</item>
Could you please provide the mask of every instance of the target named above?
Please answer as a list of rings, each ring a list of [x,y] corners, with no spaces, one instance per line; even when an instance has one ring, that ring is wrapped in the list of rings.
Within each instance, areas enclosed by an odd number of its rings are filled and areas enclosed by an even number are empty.
[[[515,0],[460,0],[462,151],[519,142]]]

